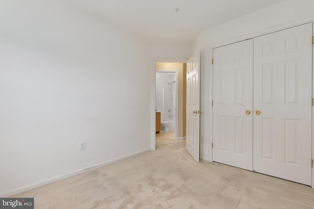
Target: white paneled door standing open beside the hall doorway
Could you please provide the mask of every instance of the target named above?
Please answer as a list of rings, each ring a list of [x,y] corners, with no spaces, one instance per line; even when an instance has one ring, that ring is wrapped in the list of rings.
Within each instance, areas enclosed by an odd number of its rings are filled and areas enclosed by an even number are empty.
[[[200,161],[200,52],[186,63],[186,150]]]

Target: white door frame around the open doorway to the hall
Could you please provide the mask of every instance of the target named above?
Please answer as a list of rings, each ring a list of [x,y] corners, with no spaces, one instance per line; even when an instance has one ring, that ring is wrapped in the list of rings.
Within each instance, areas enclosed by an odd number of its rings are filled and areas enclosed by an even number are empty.
[[[151,76],[151,150],[156,150],[156,63],[186,63],[186,58],[167,59],[154,58],[152,61]],[[178,115],[178,114],[177,114]]]

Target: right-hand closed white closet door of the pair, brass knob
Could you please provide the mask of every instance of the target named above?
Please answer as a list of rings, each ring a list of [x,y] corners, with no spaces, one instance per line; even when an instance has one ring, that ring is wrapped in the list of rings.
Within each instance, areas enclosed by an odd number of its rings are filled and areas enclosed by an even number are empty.
[[[254,38],[254,170],[312,180],[312,23]]]

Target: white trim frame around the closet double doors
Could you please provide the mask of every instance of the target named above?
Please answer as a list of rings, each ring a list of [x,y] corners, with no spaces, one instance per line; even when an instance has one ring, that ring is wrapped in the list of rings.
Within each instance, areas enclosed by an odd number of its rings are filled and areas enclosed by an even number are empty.
[[[262,36],[262,35],[266,35],[268,33],[273,33],[279,30],[284,30],[284,29],[288,29],[290,27],[295,27],[301,24],[306,24],[306,23],[312,23],[312,36],[314,36],[314,18],[308,18],[308,19],[303,19],[300,21],[296,21],[293,23],[288,23],[288,24],[283,24],[283,25],[279,25],[276,27],[271,27],[271,28],[267,28],[265,30],[259,31],[259,32],[255,32],[255,33],[251,33],[248,35],[243,35],[240,36],[238,38],[235,39],[230,39],[218,44],[213,44],[210,45],[207,49],[209,50],[209,60],[211,60],[213,58],[213,49],[220,47],[220,46],[225,46],[225,45],[230,45],[230,44],[234,44],[236,42],[240,42],[240,41],[244,41],[247,39],[252,39],[258,36]],[[312,98],[314,98],[314,46],[312,46]],[[211,85],[209,85],[209,103],[211,103],[212,99],[213,99],[213,65],[210,63],[209,64],[209,83]],[[312,106],[312,159],[314,160],[314,112],[313,112],[313,108],[314,106]],[[213,150],[211,147],[211,144],[213,142],[213,135],[212,135],[212,127],[213,127],[213,107],[211,104],[209,104],[209,162],[212,162],[213,160]],[[309,159],[310,162],[310,159]],[[312,168],[312,188],[314,188],[314,167]]]

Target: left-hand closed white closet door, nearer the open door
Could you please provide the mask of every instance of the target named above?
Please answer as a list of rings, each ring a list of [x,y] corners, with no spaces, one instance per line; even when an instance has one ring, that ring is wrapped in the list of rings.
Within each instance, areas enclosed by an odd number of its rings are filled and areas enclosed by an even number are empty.
[[[253,39],[213,50],[213,161],[253,170]]]

